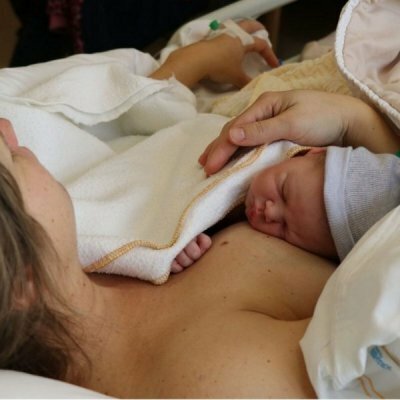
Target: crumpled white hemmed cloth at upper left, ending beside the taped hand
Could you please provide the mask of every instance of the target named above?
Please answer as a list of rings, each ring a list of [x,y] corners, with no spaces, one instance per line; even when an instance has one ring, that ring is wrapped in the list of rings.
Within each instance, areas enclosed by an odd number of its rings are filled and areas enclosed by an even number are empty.
[[[146,77],[157,67],[150,55],[123,49],[3,69],[0,100],[60,113],[88,126],[123,115],[124,133],[149,134],[196,115],[189,89],[173,78]]]

